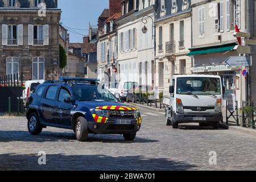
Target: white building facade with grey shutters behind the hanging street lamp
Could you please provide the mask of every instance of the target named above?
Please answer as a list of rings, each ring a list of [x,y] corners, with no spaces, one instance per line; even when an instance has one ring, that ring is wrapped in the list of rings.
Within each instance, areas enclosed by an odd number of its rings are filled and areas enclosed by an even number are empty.
[[[155,1],[122,1],[122,16],[115,20],[118,35],[118,81],[155,84]],[[142,32],[142,28],[147,31]]]

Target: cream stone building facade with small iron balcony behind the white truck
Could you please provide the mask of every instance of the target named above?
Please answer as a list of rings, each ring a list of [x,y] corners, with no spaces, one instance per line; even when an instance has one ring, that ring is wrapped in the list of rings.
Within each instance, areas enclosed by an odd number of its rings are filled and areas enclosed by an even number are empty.
[[[172,75],[191,74],[191,1],[159,0],[156,26],[156,85],[169,96]]]

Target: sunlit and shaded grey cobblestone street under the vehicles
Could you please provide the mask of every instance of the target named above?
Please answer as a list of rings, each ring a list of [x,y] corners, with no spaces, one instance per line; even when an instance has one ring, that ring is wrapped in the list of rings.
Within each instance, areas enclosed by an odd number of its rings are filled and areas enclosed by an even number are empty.
[[[0,118],[0,170],[255,170],[256,138],[197,125],[165,126],[164,114],[140,108],[142,129],[134,142],[122,135],[89,135],[48,127],[32,136],[23,117]],[[46,152],[45,166],[38,152]],[[217,165],[209,165],[209,152]]]

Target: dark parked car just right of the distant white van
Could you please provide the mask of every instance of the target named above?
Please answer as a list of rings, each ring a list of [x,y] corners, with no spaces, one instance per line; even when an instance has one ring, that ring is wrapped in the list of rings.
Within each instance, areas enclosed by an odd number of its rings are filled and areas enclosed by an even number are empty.
[[[127,93],[126,101],[127,102],[143,102],[145,100],[144,96],[148,92],[154,92],[152,86],[150,85],[139,85],[137,88],[131,90],[131,92]]]

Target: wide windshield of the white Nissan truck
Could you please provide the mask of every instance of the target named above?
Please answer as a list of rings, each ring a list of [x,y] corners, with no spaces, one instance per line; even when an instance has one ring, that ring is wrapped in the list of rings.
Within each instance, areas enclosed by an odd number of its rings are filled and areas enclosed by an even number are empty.
[[[184,77],[177,78],[177,94],[220,95],[220,78]]]

